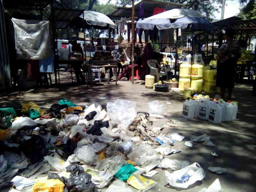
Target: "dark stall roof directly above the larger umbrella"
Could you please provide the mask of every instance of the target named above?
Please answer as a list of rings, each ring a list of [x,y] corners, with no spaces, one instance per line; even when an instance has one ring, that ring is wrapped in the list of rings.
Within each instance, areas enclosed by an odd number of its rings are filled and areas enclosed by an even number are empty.
[[[153,10],[155,7],[165,8],[166,10],[170,10],[173,8],[181,8],[185,7],[185,4],[174,3],[174,2],[162,2],[157,0],[141,0],[140,2],[134,5],[135,8],[135,17],[138,16],[139,5],[144,5],[144,18],[152,16]],[[107,16],[111,19],[119,19],[120,17],[131,17],[131,7],[116,7],[111,13],[107,14]]]

